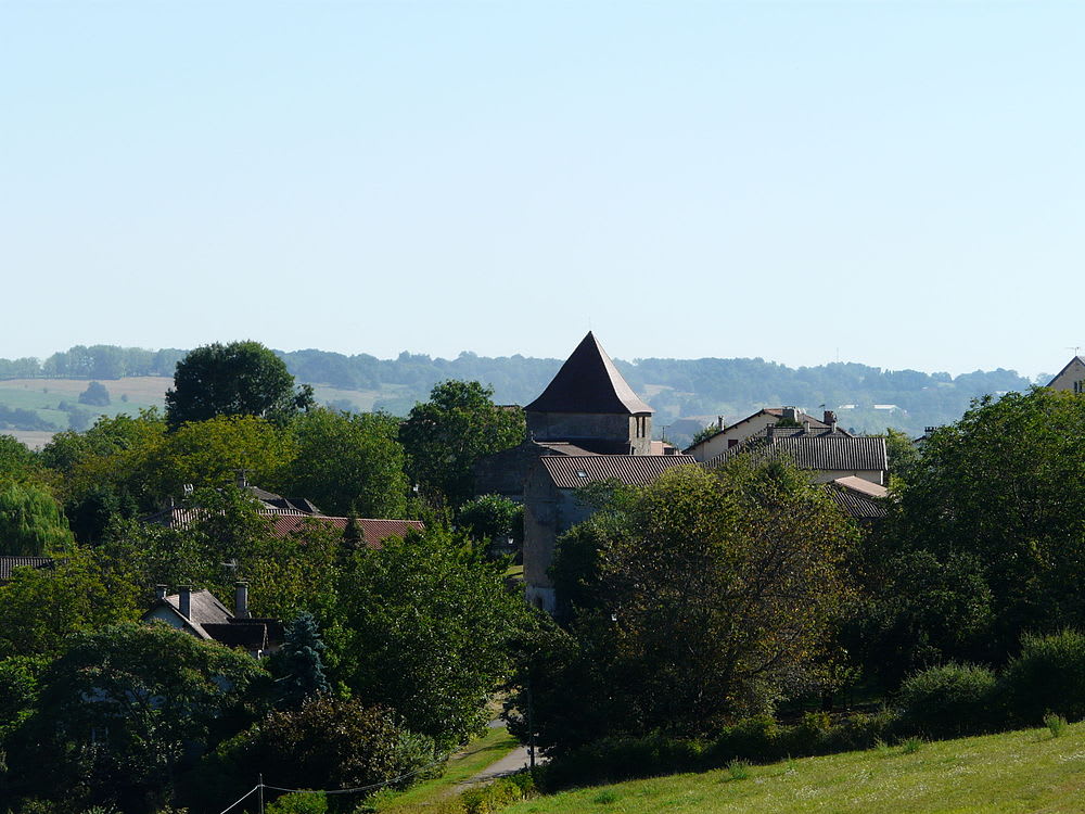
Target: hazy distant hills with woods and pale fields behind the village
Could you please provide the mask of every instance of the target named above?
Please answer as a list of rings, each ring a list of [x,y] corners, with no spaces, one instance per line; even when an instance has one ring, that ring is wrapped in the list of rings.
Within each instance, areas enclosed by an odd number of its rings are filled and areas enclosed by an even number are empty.
[[[112,345],[77,345],[48,359],[0,359],[0,431],[41,434],[81,429],[101,412],[136,412],[162,406],[174,368],[187,352]],[[327,351],[277,352],[299,382],[316,386],[318,399],[340,409],[406,415],[446,379],[476,379],[494,387],[501,404],[535,398],[561,359],[485,357],[455,359],[403,353],[395,359]],[[615,360],[629,384],[656,410],[656,436],[687,443],[700,427],[723,416],[742,418],[765,406],[794,405],[818,415],[837,411],[859,432],[894,427],[914,435],[928,425],[957,420],[969,403],[986,394],[1023,391],[1032,382],[1013,370],[978,370],[952,377],[917,370],[882,370],[855,363],[789,368],[754,359]],[[90,381],[110,391],[107,407],[78,403]],[[124,400],[122,400],[124,399]]]

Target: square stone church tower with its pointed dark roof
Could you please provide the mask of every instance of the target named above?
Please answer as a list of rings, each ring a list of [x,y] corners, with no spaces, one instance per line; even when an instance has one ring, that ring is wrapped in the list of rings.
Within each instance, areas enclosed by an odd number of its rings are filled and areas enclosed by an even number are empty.
[[[524,412],[539,443],[563,441],[600,455],[651,454],[652,408],[590,331]]]

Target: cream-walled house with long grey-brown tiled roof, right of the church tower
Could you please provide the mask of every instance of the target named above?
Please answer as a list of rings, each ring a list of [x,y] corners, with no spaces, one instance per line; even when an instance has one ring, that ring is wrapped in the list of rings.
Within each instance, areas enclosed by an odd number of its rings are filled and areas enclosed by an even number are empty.
[[[805,428],[777,429],[775,424],[710,458],[704,467],[716,469],[738,455],[750,455],[757,461],[787,458],[799,469],[809,472],[814,483],[853,476],[884,486],[889,472],[883,437],[857,437],[832,430],[807,432]]]

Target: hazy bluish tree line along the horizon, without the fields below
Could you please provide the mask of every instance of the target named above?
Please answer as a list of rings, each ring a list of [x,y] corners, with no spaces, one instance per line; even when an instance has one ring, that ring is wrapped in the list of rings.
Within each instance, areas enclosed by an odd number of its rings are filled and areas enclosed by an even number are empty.
[[[306,349],[276,352],[298,381],[344,390],[380,391],[375,409],[405,416],[437,383],[455,379],[487,383],[500,404],[527,404],[561,366],[560,359],[520,355],[484,357],[464,352],[455,359],[404,352],[395,359],[369,354],[344,355]],[[76,346],[44,361],[0,359],[0,379],[117,379],[128,376],[173,377],[186,352],[144,351],[107,345]],[[1032,382],[1012,370],[976,370],[956,377],[945,372],[883,370],[855,363],[790,368],[753,359],[637,359],[615,363],[630,385],[662,387],[650,403],[658,423],[684,416],[725,415],[741,418],[762,406],[799,405],[816,410],[854,404],[841,414],[845,425],[877,431],[891,423],[914,435],[927,425],[954,421],[970,400],[991,393],[1026,390]],[[896,405],[879,411],[873,405]],[[692,431],[675,430],[679,442]]]

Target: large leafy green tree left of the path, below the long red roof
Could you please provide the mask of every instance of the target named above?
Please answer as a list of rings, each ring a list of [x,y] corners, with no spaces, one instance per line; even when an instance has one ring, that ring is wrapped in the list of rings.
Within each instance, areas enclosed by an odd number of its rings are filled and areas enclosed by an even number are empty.
[[[470,548],[435,527],[392,538],[357,552],[340,589],[348,634],[336,677],[442,746],[485,724],[486,700],[511,667],[509,643],[529,615],[502,569]]]

